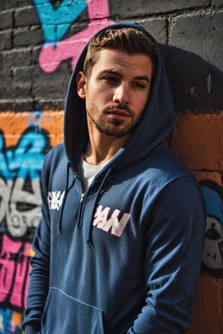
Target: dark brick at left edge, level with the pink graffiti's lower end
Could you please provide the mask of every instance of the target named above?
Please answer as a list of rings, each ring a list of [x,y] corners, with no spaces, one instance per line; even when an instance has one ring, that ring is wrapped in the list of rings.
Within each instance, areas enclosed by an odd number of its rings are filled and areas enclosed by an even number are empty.
[[[27,66],[31,65],[31,49],[13,49],[11,51],[2,52],[2,66]]]

